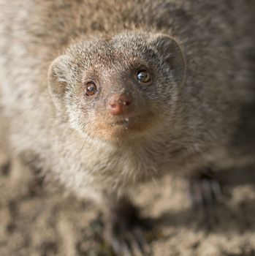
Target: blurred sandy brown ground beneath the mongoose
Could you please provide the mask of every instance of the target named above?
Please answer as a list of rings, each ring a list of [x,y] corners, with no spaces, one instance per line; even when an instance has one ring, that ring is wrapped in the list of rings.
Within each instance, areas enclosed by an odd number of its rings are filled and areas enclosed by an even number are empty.
[[[251,181],[254,170],[245,175]],[[1,140],[0,255],[113,256],[100,236],[93,203],[54,187],[18,161],[10,165]],[[154,229],[145,234],[153,255],[254,256],[254,184],[243,182],[225,191],[227,196],[206,216],[191,210],[185,181],[164,178],[137,188],[142,214],[154,219]]]

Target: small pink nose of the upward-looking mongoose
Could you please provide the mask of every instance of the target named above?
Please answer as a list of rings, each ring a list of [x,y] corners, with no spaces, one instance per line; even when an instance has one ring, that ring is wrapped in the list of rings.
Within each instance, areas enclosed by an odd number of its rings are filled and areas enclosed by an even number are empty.
[[[113,94],[108,100],[108,110],[112,115],[129,113],[132,105],[132,96],[126,94]]]

